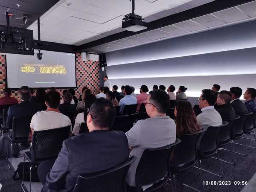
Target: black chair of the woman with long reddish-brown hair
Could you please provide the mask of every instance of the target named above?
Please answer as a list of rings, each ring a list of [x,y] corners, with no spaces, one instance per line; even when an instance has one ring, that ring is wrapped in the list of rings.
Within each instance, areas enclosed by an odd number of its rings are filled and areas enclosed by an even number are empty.
[[[182,137],[180,137],[181,142],[175,147],[175,151],[173,153],[173,159],[170,161],[170,171],[169,171],[169,178],[174,183],[175,191],[176,184],[175,184],[175,177],[178,173],[185,172],[189,169],[192,169],[196,164],[198,164],[198,159],[196,156],[196,145],[198,143],[199,137],[201,137],[202,134],[204,134],[206,130],[203,129],[201,131],[198,131],[193,134],[184,134]],[[200,165],[198,164],[200,167]],[[201,169],[198,169],[201,177],[201,184],[204,189],[203,185],[203,177],[201,173]],[[192,186],[189,186],[185,183],[182,183],[184,186],[189,187],[190,189],[195,189]]]

